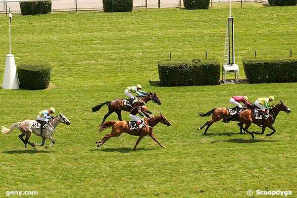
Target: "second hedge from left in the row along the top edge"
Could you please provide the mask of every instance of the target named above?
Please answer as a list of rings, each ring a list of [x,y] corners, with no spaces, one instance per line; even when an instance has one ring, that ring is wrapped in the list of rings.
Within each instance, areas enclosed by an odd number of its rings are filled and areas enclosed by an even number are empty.
[[[131,12],[133,0],[103,0],[104,12]]]

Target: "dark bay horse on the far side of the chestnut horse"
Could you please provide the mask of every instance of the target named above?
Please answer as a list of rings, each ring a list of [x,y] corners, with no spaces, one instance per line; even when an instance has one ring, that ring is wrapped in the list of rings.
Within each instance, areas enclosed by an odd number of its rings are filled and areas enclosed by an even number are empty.
[[[158,105],[162,104],[161,100],[159,99],[159,97],[157,96],[156,93],[148,93],[147,96],[143,96],[143,97],[138,97],[138,101],[133,103],[133,107],[131,107],[130,105],[124,105],[124,100],[123,99],[114,99],[111,101],[106,101],[103,102],[101,104],[98,104],[94,107],[92,107],[92,112],[96,112],[98,111],[102,106],[104,106],[104,104],[108,105],[108,112],[104,115],[104,118],[101,122],[101,126],[102,124],[105,122],[106,118],[113,112],[116,112],[116,114],[118,115],[118,119],[120,121],[122,121],[122,110],[123,111],[131,111],[132,108],[134,108],[135,106],[142,106],[142,105],[146,105],[146,103],[151,100],[152,102],[157,103]]]

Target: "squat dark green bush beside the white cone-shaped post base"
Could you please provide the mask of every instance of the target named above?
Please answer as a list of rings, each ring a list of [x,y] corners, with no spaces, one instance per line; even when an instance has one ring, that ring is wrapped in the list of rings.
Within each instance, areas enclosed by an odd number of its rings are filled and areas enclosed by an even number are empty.
[[[42,90],[49,87],[51,66],[47,63],[21,63],[17,67],[20,88]]]

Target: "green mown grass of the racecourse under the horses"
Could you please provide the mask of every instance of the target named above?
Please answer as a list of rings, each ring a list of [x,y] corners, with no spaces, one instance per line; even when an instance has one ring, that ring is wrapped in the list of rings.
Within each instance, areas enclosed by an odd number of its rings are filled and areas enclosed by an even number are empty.
[[[254,55],[297,55],[297,7],[234,8],[236,62]],[[241,198],[247,190],[297,191],[297,83],[159,87],[157,62],[211,58],[223,63],[228,7],[209,10],[150,9],[131,13],[80,12],[14,15],[12,53],[16,63],[45,60],[52,65],[48,90],[0,90],[0,126],[35,119],[53,106],[72,122],[59,125],[50,149],[24,148],[20,132],[0,136],[0,198],[6,191],[38,191],[41,198]],[[0,82],[8,53],[8,18],[0,16]],[[140,83],[162,105],[148,103],[172,123],[154,128],[160,148],[149,137],[132,150],[137,137],[123,134],[101,148],[95,142],[107,107],[91,107],[123,98],[127,86]],[[235,122],[213,124],[208,135],[198,116],[230,106],[234,95],[250,101],[273,95],[292,109],[281,112],[271,137],[240,135]],[[123,112],[129,119],[129,113]],[[116,120],[112,114],[108,119]],[[251,130],[260,128],[251,126]],[[270,131],[267,130],[269,133]],[[41,138],[32,135],[32,142]],[[50,142],[47,140],[46,145]],[[29,197],[29,196],[22,196]],[[33,197],[33,196],[32,196]],[[254,195],[254,198],[263,196]],[[267,196],[266,196],[267,197]],[[268,196],[269,197],[269,196]],[[272,197],[272,196],[270,196]]]

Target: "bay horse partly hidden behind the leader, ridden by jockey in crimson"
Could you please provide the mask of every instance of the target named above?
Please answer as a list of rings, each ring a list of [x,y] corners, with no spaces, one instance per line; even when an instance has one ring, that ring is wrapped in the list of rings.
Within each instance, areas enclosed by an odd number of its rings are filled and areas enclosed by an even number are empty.
[[[247,108],[253,108],[253,106],[243,106],[243,110],[247,109]],[[204,135],[206,135],[208,128],[214,123],[214,122],[218,122],[220,121],[222,118],[226,118],[230,116],[230,113],[228,111],[228,108],[226,107],[218,107],[218,108],[213,108],[210,111],[206,112],[206,113],[199,113],[199,115],[201,117],[205,117],[205,116],[209,116],[212,114],[212,119],[205,122],[201,127],[198,127],[198,131],[203,129],[206,125],[206,129],[204,131]],[[238,121],[238,116],[235,118],[231,119],[232,121]],[[242,133],[242,131],[241,131]]]

